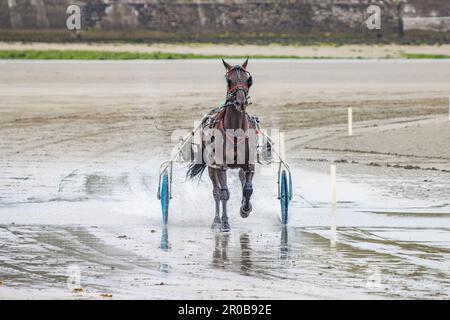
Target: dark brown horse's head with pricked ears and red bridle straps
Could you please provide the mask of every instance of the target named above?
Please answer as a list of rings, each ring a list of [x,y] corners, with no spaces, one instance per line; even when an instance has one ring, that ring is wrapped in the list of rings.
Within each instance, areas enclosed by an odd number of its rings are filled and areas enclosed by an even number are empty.
[[[223,65],[227,69],[225,79],[227,80],[227,101],[236,110],[245,112],[248,105],[247,96],[253,84],[253,78],[247,71],[248,59],[242,65],[231,66],[223,60]]]

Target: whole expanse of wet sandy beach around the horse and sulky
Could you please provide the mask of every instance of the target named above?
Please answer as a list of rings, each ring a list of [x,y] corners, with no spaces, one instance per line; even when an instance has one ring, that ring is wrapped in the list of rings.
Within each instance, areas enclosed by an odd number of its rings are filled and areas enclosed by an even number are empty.
[[[0,62],[0,298],[448,298],[449,67],[251,62],[251,112],[286,131],[292,220],[260,168],[248,220],[231,175],[222,235],[206,179],[176,169],[168,229],[155,197],[173,131],[224,97],[220,62]]]

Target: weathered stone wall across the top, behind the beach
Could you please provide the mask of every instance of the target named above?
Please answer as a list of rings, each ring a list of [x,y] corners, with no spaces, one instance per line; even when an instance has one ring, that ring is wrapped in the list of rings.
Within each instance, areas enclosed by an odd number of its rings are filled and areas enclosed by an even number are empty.
[[[235,32],[367,32],[369,4],[382,8],[382,32],[398,32],[399,17],[450,16],[448,0],[0,0],[1,29],[64,29],[66,8],[79,4],[83,27],[177,34]]]

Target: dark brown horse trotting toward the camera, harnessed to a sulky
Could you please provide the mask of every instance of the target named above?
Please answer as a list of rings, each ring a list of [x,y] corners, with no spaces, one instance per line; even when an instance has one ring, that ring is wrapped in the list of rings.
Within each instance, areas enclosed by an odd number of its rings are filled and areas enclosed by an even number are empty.
[[[219,110],[213,110],[208,119],[202,126],[202,137],[208,136],[206,130],[215,130],[214,141],[217,138],[224,143],[223,148],[224,159],[232,159],[219,164],[205,160],[203,152],[200,161],[193,160],[187,171],[187,177],[190,179],[196,176],[201,177],[203,171],[208,168],[209,177],[213,186],[213,197],[215,201],[215,216],[212,223],[212,229],[220,229],[221,232],[229,232],[230,224],[227,215],[227,201],[230,198],[230,192],[227,186],[227,170],[239,169],[239,179],[242,184],[242,202],[240,207],[240,215],[247,218],[252,211],[250,198],[253,194],[253,176],[255,173],[255,163],[252,161],[250,154],[253,154],[253,146],[255,143],[255,135],[247,133],[253,129],[256,131],[256,117],[252,117],[247,113],[249,105],[249,90],[253,84],[253,77],[247,71],[248,59],[242,65],[232,66],[222,59],[226,69],[225,79],[227,82],[226,101]],[[250,129],[250,130],[249,130]],[[232,132],[231,134],[229,132]],[[233,135],[233,132],[244,132],[244,135]],[[228,143],[226,143],[228,141]],[[232,143],[229,143],[232,141]],[[245,141],[245,144],[242,142]],[[239,145],[240,144],[240,145]],[[239,145],[239,146],[238,146]],[[244,161],[236,161],[239,157],[237,150],[242,150],[240,146],[245,145]],[[202,138],[202,151],[207,148],[205,139]],[[228,154],[228,156],[227,156]],[[222,204],[222,217],[220,217],[220,204]]]

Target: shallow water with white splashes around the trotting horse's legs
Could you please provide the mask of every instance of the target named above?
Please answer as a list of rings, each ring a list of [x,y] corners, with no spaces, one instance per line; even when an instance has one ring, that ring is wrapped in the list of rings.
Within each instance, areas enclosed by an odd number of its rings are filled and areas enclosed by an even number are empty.
[[[244,220],[236,206],[239,182],[231,174],[232,231],[223,234],[209,228],[208,183],[183,182],[183,171],[175,171],[179,183],[167,227],[161,225],[158,201],[137,192],[138,185],[128,201],[1,208],[3,282],[10,289],[82,298],[102,292],[161,299],[449,297],[448,210],[383,208],[374,190],[341,178],[339,190],[359,190],[365,196],[352,199],[360,202],[341,196],[331,210],[328,192],[303,192],[308,202],[295,196],[290,223],[283,227],[269,183],[273,176],[257,175],[254,212]],[[300,177],[318,189],[328,183],[327,175],[294,170],[294,179]],[[143,179],[135,180],[145,190]],[[103,192],[102,179],[86,181],[97,181]],[[118,184],[108,183],[113,189]],[[67,284],[74,269],[82,294]]]

